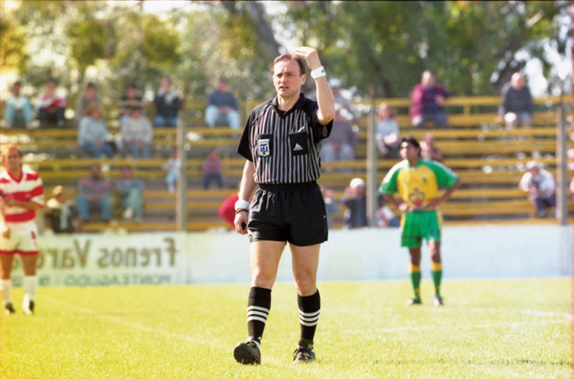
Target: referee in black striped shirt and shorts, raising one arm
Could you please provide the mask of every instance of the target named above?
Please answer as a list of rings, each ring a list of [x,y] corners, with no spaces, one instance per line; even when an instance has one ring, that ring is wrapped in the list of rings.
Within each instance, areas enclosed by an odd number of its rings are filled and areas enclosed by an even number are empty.
[[[317,101],[300,92],[307,79],[303,60],[315,80]],[[313,48],[278,56],[272,75],[277,96],[251,111],[237,147],[247,161],[235,203],[235,230],[249,235],[251,261],[249,337],[234,350],[235,360],[242,364],[261,363],[261,337],[286,243],[301,325],[294,362],[315,361],[313,337],[321,308],[316,276],[319,248],[327,240],[327,216],[316,180],[321,172],[321,140],[331,133],[335,101]],[[249,204],[256,184],[259,189]]]

